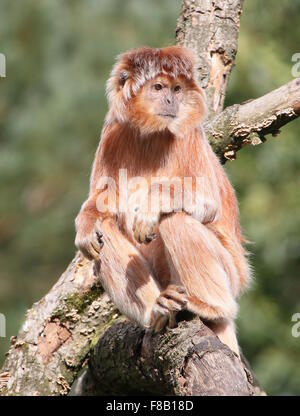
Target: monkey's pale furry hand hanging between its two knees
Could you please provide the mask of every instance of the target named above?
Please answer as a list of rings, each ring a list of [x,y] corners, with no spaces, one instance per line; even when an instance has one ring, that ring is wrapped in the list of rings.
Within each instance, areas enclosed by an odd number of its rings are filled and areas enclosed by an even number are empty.
[[[156,238],[155,227],[159,222],[159,213],[149,213],[137,210],[132,231],[138,243],[150,243]]]

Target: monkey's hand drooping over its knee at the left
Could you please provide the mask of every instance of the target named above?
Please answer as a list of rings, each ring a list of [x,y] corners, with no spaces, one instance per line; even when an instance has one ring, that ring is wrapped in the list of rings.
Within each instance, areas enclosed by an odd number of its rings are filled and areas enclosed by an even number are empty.
[[[100,227],[100,221],[96,221],[94,227],[88,233],[78,230],[75,246],[89,260],[98,259],[101,248],[103,247],[103,234]]]

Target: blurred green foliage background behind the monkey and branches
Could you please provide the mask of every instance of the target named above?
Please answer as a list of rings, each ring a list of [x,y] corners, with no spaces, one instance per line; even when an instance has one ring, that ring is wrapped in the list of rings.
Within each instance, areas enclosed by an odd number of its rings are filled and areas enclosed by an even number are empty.
[[[0,312],[7,338],[64,271],[74,218],[107,110],[105,81],[126,49],[174,42],[180,0],[2,0],[0,52]],[[246,0],[226,104],[289,81],[300,52],[300,1]],[[239,338],[269,394],[300,394],[299,120],[226,165],[253,241],[255,281]]]

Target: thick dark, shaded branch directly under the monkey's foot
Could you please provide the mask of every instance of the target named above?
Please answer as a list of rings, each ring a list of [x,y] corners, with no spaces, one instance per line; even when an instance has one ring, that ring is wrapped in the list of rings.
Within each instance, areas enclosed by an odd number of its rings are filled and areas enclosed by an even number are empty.
[[[130,382],[128,382],[130,380]],[[71,395],[250,396],[264,392],[198,318],[153,335],[133,324],[101,337]]]

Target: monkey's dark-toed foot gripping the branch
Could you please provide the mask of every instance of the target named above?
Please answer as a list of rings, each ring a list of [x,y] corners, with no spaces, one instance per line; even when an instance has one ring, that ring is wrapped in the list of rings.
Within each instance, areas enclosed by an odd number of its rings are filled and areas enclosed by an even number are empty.
[[[161,331],[165,326],[176,326],[176,314],[184,310],[187,304],[186,290],[183,286],[170,285],[164,290],[153,306],[150,328],[155,332]]]

